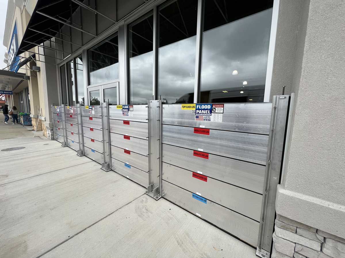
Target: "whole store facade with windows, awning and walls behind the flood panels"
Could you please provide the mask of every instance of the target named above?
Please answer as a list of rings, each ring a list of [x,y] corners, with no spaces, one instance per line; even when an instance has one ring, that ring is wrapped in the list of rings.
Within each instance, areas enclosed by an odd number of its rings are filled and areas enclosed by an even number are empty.
[[[50,105],[263,103],[294,94],[266,251],[345,257],[344,1],[8,4],[6,58],[22,82],[2,89],[48,138]]]

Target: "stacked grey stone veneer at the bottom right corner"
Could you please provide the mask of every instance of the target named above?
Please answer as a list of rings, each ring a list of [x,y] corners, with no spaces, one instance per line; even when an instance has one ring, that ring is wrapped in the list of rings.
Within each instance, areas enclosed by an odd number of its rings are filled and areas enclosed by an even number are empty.
[[[277,214],[272,258],[345,258],[345,239]]]

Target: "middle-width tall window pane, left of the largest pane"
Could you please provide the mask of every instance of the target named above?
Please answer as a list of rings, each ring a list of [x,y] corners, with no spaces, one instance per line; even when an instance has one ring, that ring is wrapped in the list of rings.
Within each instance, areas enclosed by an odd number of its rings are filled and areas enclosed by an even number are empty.
[[[167,103],[193,103],[198,1],[159,8],[158,95]]]

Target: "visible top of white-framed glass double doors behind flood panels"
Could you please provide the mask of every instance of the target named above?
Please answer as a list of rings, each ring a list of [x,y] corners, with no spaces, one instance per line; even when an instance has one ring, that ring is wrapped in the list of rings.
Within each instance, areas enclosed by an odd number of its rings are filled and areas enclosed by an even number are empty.
[[[101,102],[117,105],[119,103],[119,83],[89,87],[88,97],[90,106],[100,105]]]

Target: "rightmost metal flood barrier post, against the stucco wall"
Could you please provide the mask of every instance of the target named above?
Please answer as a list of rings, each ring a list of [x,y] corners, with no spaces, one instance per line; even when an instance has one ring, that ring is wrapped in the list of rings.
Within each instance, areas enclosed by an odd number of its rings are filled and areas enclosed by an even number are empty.
[[[288,116],[289,96],[273,96],[264,195],[260,216],[260,228],[256,255],[270,257],[272,234],[275,219],[275,200],[277,185],[282,171],[286,122]]]

